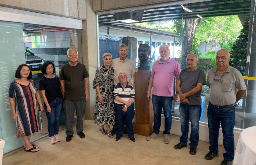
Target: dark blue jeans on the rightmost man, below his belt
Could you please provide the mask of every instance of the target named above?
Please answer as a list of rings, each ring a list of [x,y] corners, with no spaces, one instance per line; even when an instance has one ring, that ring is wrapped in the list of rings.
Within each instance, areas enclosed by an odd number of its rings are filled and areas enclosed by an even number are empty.
[[[218,153],[218,140],[220,124],[223,133],[223,146],[226,153],[224,159],[232,161],[234,159],[234,124],[235,124],[235,106],[223,109],[217,109],[208,105],[208,127],[210,147],[214,153]]]

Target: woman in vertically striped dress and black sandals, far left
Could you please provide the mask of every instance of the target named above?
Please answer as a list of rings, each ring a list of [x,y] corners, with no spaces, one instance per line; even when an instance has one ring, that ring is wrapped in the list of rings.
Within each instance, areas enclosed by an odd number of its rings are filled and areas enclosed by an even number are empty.
[[[21,64],[15,73],[15,78],[10,84],[9,100],[12,119],[16,121],[17,137],[22,137],[27,152],[37,152],[39,147],[30,143],[30,136],[42,129],[40,111],[43,105],[37,87],[32,78],[32,71],[26,64]]]

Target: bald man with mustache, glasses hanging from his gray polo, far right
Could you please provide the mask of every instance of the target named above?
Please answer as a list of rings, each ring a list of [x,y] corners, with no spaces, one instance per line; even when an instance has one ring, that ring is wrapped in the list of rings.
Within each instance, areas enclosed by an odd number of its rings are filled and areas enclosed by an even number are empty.
[[[216,65],[209,70],[207,84],[210,88],[210,102],[207,109],[210,151],[205,159],[217,156],[220,124],[223,133],[223,146],[226,153],[221,165],[230,165],[234,159],[235,104],[245,92],[246,85],[242,74],[229,66],[229,52],[221,49],[216,53]],[[236,93],[236,89],[238,92]]]

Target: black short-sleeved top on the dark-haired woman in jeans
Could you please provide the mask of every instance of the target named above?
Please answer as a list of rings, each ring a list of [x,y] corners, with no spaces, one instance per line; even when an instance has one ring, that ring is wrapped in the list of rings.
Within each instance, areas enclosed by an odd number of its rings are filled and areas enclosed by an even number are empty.
[[[48,102],[56,98],[62,98],[61,83],[58,76],[54,78],[43,76],[39,81],[39,90],[45,91]]]

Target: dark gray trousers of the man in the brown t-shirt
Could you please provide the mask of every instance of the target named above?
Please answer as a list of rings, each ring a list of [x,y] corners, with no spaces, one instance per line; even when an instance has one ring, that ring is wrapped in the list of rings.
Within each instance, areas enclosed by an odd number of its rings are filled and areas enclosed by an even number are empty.
[[[65,111],[65,121],[66,121],[66,134],[73,135],[73,119],[74,113],[76,110],[76,132],[80,133],[83,131],[83,119],[84,119],[84,111],[85,111],[85,100],[64,100],[63,108]]]

